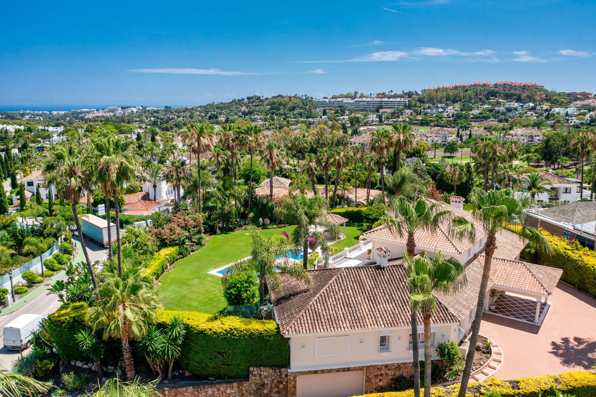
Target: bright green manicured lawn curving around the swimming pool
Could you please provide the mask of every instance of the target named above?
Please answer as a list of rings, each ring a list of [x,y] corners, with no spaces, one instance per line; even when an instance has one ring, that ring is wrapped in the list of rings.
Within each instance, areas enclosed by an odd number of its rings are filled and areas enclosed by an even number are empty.
[[[260,232],[267,238],[283,230],[291,232],[293,228]],[[158,290],[162,293],[165,308],[204,313],[215,313],[225,308],[222,279],[207,272],[250,255],[250,235],[244,233],[234,231],[212,235],[206,246],[174,263],[175,269],[159,279],[162,285]]]

